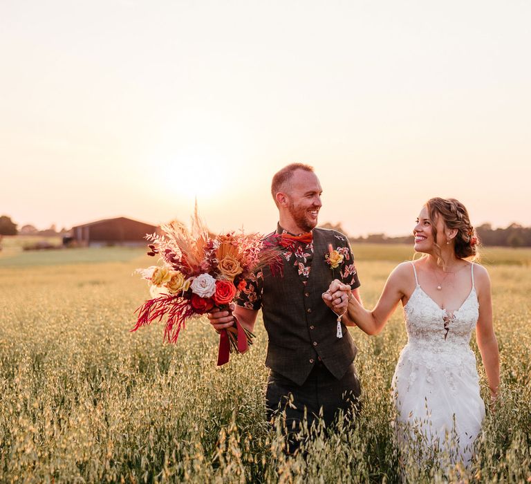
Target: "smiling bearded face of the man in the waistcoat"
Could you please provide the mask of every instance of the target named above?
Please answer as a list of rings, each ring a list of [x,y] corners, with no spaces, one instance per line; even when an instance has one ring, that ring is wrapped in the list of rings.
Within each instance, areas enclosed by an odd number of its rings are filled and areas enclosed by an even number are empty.
[[[297,169],[284,192],[277,195],[281,225],[288,232],[310,232],[317,225],[322,188],[313,171]]]

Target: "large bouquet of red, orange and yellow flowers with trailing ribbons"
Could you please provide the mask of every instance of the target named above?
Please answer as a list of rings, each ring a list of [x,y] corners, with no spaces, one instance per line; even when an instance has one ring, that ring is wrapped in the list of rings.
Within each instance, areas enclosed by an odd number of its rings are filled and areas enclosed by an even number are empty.
[[[192,230],[179,222],[162,225],[160,234],[147,235],[151,257],[157,266],[138,269],[150,286],[152,299],[136,310],[138,320],[131,331],[166,317],[164,339],[177,342],[181,329],[192,317],[229,304],[245,290],[245,279],[263,266],[278,263],[277,255],[265,246],[259,234],[229,232],[212,236],[198,216]],[[252,344],[252,333],[234,317],[235,326],[220,331],[218,365],[229,361],[229,353],[244,353]]]

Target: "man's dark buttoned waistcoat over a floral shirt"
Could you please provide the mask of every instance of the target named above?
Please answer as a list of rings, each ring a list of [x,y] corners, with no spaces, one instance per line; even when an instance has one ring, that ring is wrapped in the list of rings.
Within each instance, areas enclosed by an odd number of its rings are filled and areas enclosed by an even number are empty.
[[[268,332],[270,369],[301,385],[306,381],[318,357],[339,379],[356,355],[356,346],[342,324],[343,337],[336,336],[337,316],[324,301],[322,293],[333,279],[340,279],[326,263],[328,244],[347,246],[346,238],[333,230],[313,230],[313,260],[306,286],[297,268],[283,261],[283,276],[263,271],[262,313]]]

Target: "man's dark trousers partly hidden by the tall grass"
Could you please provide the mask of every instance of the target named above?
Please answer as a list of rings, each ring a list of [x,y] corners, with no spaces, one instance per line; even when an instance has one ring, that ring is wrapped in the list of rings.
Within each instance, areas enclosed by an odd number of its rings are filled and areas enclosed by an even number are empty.
[[[271,370],[265,407],[269,421],[275,416],[283,419],[282,425],[288,436],[287,450],[292,454],[299,445],[295,434],[299,433],[305,416],[308,428],[318,418],[322,418],[326,427],[329,427],[340,411],[345,416],[352,416],[359,411],[360,394],[360,380],[354,364],[337,380],[322,362],[317,362],[306,382],[301,385]]]

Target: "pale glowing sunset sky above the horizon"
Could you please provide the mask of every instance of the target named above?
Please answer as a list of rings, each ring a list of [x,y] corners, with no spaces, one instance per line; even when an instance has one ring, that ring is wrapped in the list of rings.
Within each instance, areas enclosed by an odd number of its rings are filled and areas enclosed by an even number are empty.
[[[411,232],[432,196],[531,225],[531,2],[0,0],[0,215]]]

